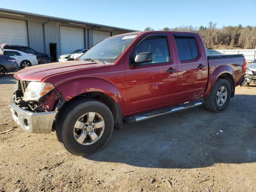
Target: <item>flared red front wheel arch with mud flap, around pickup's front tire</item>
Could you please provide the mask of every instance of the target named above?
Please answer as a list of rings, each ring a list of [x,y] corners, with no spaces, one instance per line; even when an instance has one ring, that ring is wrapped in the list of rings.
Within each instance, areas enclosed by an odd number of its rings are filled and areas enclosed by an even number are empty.
[[[93,77],[80,78],[59,84],[56,89],[63,95],[66,104],[78,99],[86,100],[86,98],[94,98],[103,102],[110,108],[114,116],[115,128],[122,128],[124,98],[111,82]]]

